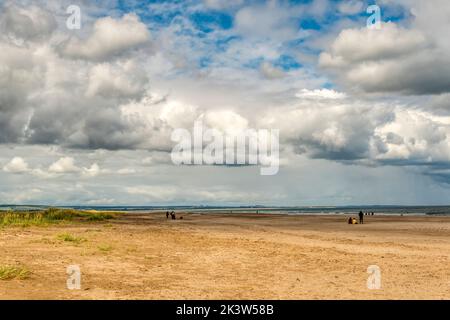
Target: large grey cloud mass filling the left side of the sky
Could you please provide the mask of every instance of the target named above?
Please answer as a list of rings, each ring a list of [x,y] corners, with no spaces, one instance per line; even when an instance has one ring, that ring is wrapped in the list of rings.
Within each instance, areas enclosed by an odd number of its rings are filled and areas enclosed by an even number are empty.
[[[149,32],[137,16],[99,19],[85,41],[70,36],[65,50],[70,57],[49,39],[58,30],[44,9],[8,3],[0,26],[0,142],[106,149],[145,145],[152,130],[124,117],[120,107],[141,99],[149,79],[136,53],[116,57],[148,42]],[[103,61],[72,61],[75,56]]]

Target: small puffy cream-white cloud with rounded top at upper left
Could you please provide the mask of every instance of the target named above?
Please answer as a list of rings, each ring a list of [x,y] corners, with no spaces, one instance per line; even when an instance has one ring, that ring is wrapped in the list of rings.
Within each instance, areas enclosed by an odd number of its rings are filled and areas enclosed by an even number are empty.
[[[105,60],[150,41],[150,32],[137,15],[125,14],[120,19],[97,20],[92,34],[85,40],[71,38],[63,53],[72,58]]]

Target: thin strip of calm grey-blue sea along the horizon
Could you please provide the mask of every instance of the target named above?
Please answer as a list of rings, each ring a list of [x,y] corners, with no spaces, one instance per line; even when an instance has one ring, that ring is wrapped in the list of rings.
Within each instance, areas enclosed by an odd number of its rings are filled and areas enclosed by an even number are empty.
[[[47,206],[0,205],[0,210],[41,210]],[[63,206],[79,210],[98,211],[185,211],[185,212],[217,212],[217,213],[267,213],[267,214],[349,214],[374,212],[384,215],[450,215],[450,206],[341,206],[341,207],[220,207],[220,206]]]

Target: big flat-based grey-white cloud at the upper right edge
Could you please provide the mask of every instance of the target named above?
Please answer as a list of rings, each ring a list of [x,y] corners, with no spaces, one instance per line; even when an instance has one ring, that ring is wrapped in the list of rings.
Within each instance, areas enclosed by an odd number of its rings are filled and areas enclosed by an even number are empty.
[[[349,89],[440,94],[450,88],[448,51],[432,37],[395,23],[380,30],[347,29],[319,58],[319,65]]]

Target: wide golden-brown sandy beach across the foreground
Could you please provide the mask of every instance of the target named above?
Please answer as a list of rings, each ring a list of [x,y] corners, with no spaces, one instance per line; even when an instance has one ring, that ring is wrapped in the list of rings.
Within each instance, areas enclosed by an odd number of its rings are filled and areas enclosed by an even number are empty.
[[[450,299],[449,217],[125,214],[0,228],[1,299]],[[64,241],[61,234],[78,241]],[[66,268],[79,265],[81,289]],[[367,268],[381,288],[367,288]]]

